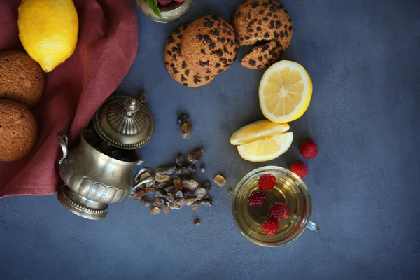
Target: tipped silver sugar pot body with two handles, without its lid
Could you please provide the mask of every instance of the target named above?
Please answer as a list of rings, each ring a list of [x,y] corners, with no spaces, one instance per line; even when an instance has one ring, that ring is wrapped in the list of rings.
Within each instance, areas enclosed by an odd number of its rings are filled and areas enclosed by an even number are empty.
[[[137,187],[154,181],[155,174],[149,168],[140,169],[132,178],[133,167],[142,163],[137,151],[126,151],[130,162],[97,151],[92,143],[101,139],[93,130],[83,131],[80,144],[69,152],[67,135],[59,132],[57,139],[63,151],[63,157],[59,159],[59,176],[66,184],[57,198],[74,214],[91,220],[105,218],[107,204],[122,202]],[[140,180],[146,172],[150,176]]]

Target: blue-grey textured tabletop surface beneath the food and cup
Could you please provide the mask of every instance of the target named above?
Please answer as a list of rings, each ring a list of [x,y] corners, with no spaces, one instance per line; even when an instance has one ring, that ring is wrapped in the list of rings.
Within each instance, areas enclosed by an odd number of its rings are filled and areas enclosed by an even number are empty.
[[[290,124],[295,141],[267,164],[288,166],[313,138],[318,158],[304,160],[313,200],[305,231],[282,248],[262,248],[235,227],[226,194],[247,172],[230,134],[262,118],[263,71],[237,62],[213,83],[182,87],[162,61],[167,35],[214,13],[230,19],[240,0],[198,0],[179,22],[159,25],[138,12],[139,53],[120,90],[149,94],[156,134],[140,153],[147,166],[204,146],[214,187],[211,209],[152,216],[138,202],[110,207],[104,221],[66,211],[55,196],[0,200],[0,279],[415,279],[419,256],[420,1],[285,0],[295,24],[283,59],[306,67],[314,82],[307,113]],[[241,51],[241,57],[244,50]],[[194,133],[179,137],[188,111]],[[202,219],[200,227],[193,219]]]

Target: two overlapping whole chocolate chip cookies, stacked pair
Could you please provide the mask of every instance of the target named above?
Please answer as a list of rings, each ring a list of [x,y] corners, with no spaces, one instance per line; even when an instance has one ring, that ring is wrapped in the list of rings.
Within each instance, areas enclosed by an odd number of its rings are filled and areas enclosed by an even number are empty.
[[[178,83],[200,87],[232,66],[238,48],[232,25],[216,15],[207,15],[169,35],[165,65]]]

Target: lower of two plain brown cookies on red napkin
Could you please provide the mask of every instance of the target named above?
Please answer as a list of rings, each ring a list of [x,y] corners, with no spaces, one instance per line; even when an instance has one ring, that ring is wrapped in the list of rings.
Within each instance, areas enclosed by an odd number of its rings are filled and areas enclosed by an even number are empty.
[[[38,139],[38,125],[25,106],[0,99],[0,161],[24,158]]]

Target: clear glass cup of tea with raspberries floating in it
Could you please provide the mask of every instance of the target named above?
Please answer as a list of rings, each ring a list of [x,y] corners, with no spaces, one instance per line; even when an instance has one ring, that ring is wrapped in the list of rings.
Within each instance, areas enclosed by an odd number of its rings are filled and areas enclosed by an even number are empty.
[[[248,205],[248,197],[258,188],[258,178],[262,174],[276,176],[277,183],[271,190],[266,190],[266,200],[262,207]],[[271,218],[269,207],[276,202],[283,202],[290,207],[290,217],[281,219],[279,230],[274,235],[267,235],[262,230],[262,222]],[[250,241],[260,246],[283,246],[302,235],[305,228],[318,231],[318,225],[309,221],[312,213],[312,200],[307,186],[299,176],[283,167],[267,166],[254,169],[237,184],[232,198],[232,214],[241,233]]]

